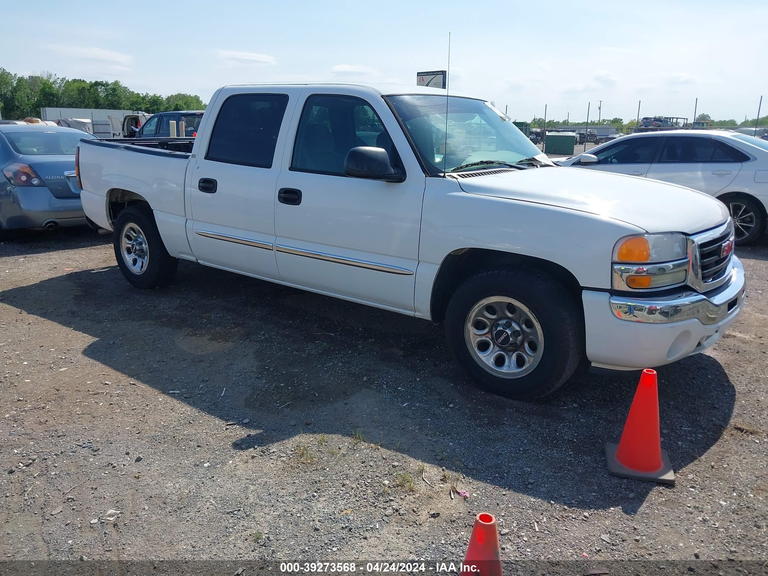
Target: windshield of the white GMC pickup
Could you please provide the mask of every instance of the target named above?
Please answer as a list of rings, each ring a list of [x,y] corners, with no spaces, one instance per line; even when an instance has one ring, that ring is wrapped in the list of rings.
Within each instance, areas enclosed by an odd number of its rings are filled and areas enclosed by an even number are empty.
[[[515,124],[488,102],[425,94],[386,99],[406,127],[430,176],[477,161],[515,164],[541,154]]]

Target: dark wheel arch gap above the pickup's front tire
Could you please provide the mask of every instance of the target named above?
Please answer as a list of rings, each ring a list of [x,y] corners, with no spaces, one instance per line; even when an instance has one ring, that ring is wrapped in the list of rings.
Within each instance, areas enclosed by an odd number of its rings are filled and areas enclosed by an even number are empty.
[[[445,310],[448,308],[452,294],[467,278],[484,270],[520,264],[531,266],[554,277],[568,290],[579,310],[582,310],[581,284],[564,266],[550,260],[503,250],[460,248],[445,256],[435,275],[429,300],[432,321],[440,323],[445,319]]]

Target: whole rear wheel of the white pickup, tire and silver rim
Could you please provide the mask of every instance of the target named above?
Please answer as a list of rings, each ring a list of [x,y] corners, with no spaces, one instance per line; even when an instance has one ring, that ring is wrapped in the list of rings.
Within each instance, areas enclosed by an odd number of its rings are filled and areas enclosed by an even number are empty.
[[[137,288],[157,288],[174,279],[179,260],[170,256],[149,207],[131,206],[114,223],[114,257]]]

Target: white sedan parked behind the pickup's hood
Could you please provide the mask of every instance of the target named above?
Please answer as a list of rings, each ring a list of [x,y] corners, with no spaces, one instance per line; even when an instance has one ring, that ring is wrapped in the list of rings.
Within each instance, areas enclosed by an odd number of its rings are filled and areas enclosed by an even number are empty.
[[[768,141],[760,138],[713,130],[647,132],[555,162],[664,180],[710,194],[730,210],[739,244],[754,242],[766,230]]]

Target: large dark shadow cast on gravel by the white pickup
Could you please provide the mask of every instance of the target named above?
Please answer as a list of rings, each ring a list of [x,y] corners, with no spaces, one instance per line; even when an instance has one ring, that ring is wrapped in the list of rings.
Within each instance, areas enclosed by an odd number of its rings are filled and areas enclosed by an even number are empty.
[[[239,422],[220,449],[268,453],[301,431],[355,435],[584,510],[634,514],[654,488],[607,475],[604,462],[634,376],[581,373],[548,399],[503,399],[465,379],[431,323],[192,263],[165,290],[135,290],[111,266],[7,290],[0,303],[92,336],[84,356],[126,380]],[[663,445],[679,471],[720,438],[735,390],[703,354],[659,376]]]

